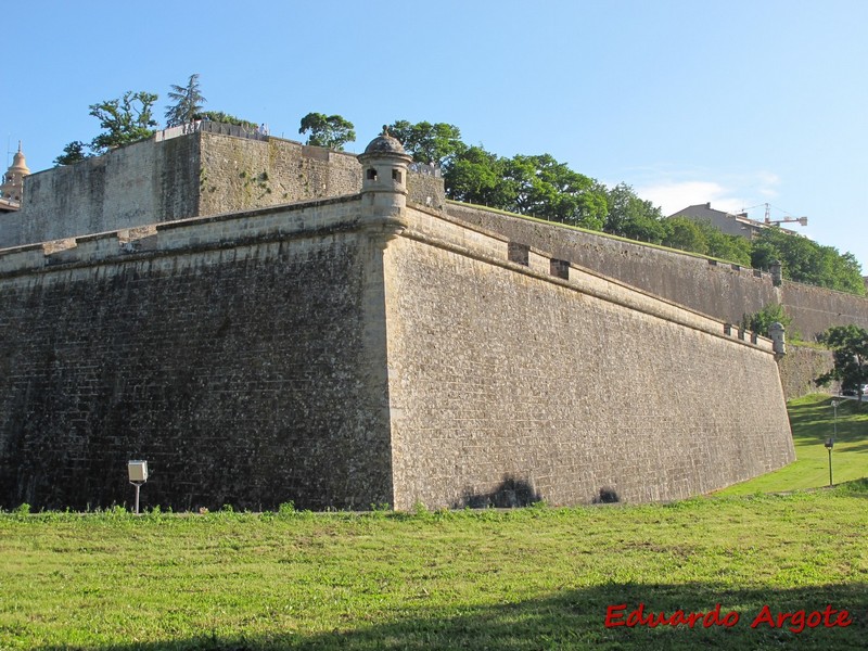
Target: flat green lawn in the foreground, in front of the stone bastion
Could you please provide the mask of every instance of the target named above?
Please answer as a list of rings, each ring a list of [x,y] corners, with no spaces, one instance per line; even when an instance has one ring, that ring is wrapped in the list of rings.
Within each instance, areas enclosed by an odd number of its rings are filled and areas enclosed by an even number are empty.
[[[0,585],[0,649],[864,648],[868,481],[575,509],[5,513]],[[640,603],[738,622],[605,626]],[[795,615],[752,627],[766,612]]]

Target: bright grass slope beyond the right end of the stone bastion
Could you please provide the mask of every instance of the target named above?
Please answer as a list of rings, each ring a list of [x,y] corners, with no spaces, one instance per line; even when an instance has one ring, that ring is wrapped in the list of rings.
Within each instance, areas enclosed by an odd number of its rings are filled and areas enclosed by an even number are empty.
[[[749,495],[829,485],[829,452],[824,443],[835,430],[832,397],[813,394],[789,404],[796,461],[718,495]],[[832,448],[832,482],[840,484],[868,477],[868,403],[855,409],[855,400],[838,407],[838,437]]]

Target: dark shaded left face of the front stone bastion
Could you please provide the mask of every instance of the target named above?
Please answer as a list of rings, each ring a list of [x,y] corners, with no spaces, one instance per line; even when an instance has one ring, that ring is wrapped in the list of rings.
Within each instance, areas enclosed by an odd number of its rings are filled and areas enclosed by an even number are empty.
[[[382,253],[356,204],[0,255],[0,507],[129,503],[129,459],[143,506],[391,501]]]

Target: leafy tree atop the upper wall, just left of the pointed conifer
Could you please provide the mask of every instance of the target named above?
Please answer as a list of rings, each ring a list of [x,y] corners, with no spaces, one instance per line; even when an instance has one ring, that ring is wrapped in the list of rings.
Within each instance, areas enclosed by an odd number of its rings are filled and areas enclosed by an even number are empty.
[[[153,118],[152,107],[157,95],[145,92],[128,90],[123,98],[107,100],[99,104],[91,104],[90,114],[100,120],[103,132],[97,136],[91,149],[102,154],[131,142],[146,140],[154,135],[156,120]]]

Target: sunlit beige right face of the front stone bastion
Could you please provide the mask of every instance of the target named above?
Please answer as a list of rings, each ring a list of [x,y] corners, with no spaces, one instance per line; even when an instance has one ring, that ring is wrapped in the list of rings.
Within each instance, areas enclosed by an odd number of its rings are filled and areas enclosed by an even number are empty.
[[[390,244],[396,507],[675,499],[794,459],[767,340],[524,253],[433,216]]]

